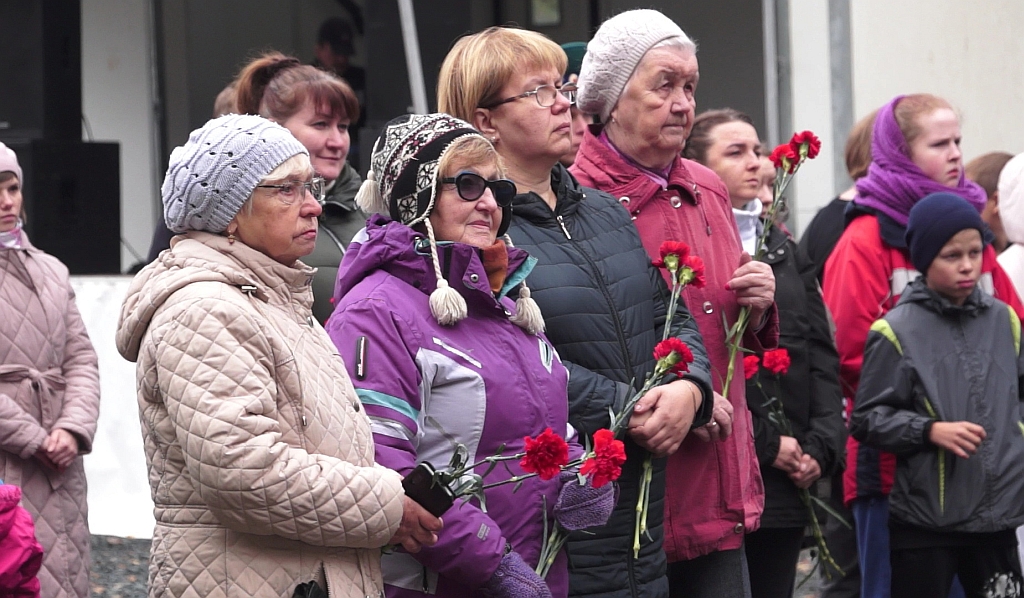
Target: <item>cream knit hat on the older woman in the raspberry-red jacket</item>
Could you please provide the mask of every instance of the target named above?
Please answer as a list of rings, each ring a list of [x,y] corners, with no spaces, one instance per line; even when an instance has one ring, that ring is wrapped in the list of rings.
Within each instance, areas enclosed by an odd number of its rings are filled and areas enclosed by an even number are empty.
[[[599,115],[601,122],[607,123],[647,50],[672,38],[696,50],[683,30],[657,10],[627,10],[605,20],[587,44],[580,68],[577,106],[586,114]]]

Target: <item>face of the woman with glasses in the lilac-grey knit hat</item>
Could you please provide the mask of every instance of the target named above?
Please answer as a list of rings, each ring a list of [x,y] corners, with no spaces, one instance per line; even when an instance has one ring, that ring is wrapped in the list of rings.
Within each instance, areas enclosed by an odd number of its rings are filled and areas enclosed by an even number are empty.
[[[316,217],[323,209],[302,183],[312,179],[312,172],[294,174],[284,180],[263,180],[250,202],[243,206],[227,225],[242,243],[270,258],[291,265],[312,253],[316,246]],[[297,183],[297,184],[296,184]]]

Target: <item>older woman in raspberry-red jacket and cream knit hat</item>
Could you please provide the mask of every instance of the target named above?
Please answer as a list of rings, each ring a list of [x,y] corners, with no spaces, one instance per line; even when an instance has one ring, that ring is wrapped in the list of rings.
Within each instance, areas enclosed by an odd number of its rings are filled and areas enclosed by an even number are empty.
[[[570,171],[618,199],[652,255],[673,240],[705,260],[707,286],[687,287],[684,297],[718,373],[716,404],[711,423],[669,458],[669,583],[678,596],[749,596],[741,548],[744,532],[759,525],[764,489],[743,378],[731,381],[728,401],[717,393],[729,365],[726,322],[735,322],[740,307],[752,310],[745,348],[777,343],[775,282],[771,267],[742,252],[721,179],[680,158],[697,79],[696,47],[660,12],[630,10],[606,20],[587,46],[577,99],[601,125],[588,131]],[[724,433],[730,423],[731,434]]]

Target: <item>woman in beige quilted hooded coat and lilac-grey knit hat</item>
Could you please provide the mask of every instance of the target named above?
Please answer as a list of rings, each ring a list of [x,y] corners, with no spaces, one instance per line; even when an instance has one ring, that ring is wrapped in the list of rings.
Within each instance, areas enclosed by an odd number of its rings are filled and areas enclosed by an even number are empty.
[[[171,154],[179,233],[132,282],[117,346],[138,364],[157,526],[151,596],[378,596],[380,549],[440,521],[374,463],[370,420],[311,315],[322,181],[284,127],[229,115]]]

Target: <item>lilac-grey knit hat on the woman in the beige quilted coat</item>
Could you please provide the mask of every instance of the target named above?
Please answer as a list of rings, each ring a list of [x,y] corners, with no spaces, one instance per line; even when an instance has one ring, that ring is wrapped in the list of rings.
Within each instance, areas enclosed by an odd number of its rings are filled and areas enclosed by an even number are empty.
[[[298,154],[309,155],[281,125],[253,115],[207,122],[171,153],[160,195],[173,232],[223,232],[259,181]]]

